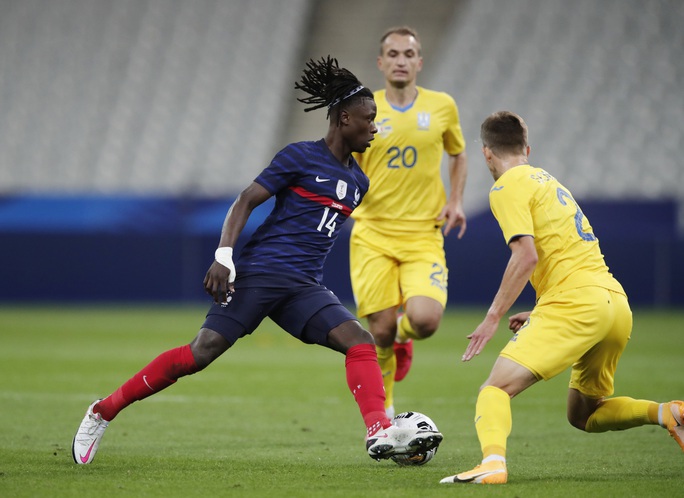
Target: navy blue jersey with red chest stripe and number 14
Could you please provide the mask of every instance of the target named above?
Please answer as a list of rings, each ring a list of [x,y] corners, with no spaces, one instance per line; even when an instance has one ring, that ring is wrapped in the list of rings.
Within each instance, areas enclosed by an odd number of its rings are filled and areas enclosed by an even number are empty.
[[[368,191],[356,160],[345,166],[321,139],[278,152],[254,180],[275,196],[275,206],[242,249],[241,273],[287,272],[320,282],[323,264],[342,224]]]

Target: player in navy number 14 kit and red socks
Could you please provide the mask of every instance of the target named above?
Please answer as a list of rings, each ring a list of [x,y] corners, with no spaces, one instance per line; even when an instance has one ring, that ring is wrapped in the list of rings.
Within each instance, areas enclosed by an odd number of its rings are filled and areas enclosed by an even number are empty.
[[[320,283],[341,225],[368,190],[368,178],[351,154],[363,152],[377,132],[373,94],[330,57],[309,61],[295,88],[309,95],[299,99],[310,104],[305,111],[328,108],[325,138],[286,146],[240,193],[204,278],[214,304],[199,333],[88,407],[72,443],[77,464],[92,462],[105,429],[121,410],[204,369],[267,316],[304,343],[346,355],[347,383],[366,424],[371,457],[427,451],[441,442],[438,432],[391,424],[373,336]],[[247,219],[271,196],[276,198],[273,211],[234,264],[232,248]]]

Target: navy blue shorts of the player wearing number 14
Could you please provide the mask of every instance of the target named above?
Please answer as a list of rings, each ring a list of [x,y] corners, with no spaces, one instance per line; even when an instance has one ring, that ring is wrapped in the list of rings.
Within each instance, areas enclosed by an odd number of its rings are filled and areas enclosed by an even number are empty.
[[[218,332],[232,345],[266,317],[300,341],[322,346],[328,346],[332,329],[356,320],[331,290],[313,279],[259,273],[238,275],[235,292],[227,303],[211,306],[202,328]]]

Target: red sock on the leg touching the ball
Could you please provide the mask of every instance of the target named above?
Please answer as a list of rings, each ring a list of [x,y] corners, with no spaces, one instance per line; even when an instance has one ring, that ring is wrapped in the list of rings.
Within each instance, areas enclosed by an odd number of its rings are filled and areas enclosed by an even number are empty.
[[[347,385],[354,395],[368,435],[392,425],[385,413],[385,388],[373,344],[358,344],[347,350]]]

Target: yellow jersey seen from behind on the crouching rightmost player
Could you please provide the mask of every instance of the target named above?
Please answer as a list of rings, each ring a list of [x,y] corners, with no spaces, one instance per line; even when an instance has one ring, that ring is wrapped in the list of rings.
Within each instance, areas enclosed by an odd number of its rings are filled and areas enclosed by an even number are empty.
[[[584,286],[624,294],[589,220],[549,173],[529,164],[511,168],[494,183],[489,203],[507,244],[519,235],[534,237],[539,260],[530,283],[537,297]]]

